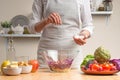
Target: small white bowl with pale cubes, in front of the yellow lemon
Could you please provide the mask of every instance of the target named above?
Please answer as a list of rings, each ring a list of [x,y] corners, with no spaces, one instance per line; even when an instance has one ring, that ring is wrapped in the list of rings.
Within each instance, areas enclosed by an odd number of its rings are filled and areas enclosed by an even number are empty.
[[[22,71],[22,68],[18,67],[18,68],[7,68],[4,67],[3,68],[3,73],[5,75],[9,75],[9,76],[16,76],[19,75]]]

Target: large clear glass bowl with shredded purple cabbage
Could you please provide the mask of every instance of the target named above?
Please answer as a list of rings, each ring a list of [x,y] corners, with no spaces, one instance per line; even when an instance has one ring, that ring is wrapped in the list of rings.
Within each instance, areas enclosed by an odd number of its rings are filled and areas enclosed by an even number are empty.
[[[78,53],[75,50],[46,50],[43,54],[51,71],[68,72]]]

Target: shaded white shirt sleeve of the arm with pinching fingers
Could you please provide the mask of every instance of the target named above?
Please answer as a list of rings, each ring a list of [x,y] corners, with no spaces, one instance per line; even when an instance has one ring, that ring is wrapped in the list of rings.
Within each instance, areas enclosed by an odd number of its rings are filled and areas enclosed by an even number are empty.
[[[42,20],[42,0],[34,0],[32,5],[32,17],[30,19],[30,24],[28,30],[30,33],[36,33],[35,24]]]

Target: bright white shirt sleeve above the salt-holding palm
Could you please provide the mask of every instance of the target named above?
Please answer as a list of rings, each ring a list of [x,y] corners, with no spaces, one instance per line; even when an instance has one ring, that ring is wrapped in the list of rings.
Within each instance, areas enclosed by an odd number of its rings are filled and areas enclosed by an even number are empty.
[[[81,4],[81,21],[82,21],[82,30],[88,30],[90,36],[93,34],[93,23],[90,10],[90,0],[83,0]]]

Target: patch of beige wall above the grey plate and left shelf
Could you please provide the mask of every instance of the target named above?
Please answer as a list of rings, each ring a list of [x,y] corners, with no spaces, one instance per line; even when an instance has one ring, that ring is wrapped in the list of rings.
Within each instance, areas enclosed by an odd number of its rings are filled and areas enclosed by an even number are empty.
[[[28,16],[33,0],[0,0],[0,21],[10,20],[15,15]]]

